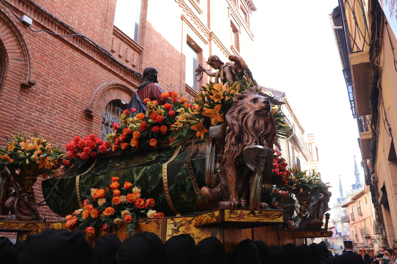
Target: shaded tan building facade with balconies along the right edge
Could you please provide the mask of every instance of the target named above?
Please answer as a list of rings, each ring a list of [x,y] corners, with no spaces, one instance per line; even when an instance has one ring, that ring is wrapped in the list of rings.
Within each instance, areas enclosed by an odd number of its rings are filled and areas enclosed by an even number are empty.
[[[380,228],[379,246],[392,247],[397,236],[397,2],[339,3],[330,21],[357,120],[365,183]]]

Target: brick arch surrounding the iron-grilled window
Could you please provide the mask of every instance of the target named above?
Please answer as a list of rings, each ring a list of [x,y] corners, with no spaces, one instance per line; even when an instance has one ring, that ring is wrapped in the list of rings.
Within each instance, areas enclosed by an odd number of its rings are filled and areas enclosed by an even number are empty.
[[[98,87],[91,97],[88,108],[85,109],[85,114],[93,118],[91,133],[100,135],[103,111],[110,101],[119,99],[128,103],[133,93],[131,87],[116,82],[110,82]]]

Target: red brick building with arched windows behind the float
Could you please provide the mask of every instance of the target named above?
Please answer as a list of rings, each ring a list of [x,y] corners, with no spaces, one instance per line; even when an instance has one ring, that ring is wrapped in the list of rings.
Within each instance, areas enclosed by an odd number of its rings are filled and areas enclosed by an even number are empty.
[[[0,143],[37,133],[64,148],[75,135],[106,135],[147,66],[158,68],[163,89],[190,97],[194,69],[208,68],[209,55],[252,61],[255,10],[252,0],[1,0]],[[39,181],[35,192],[40,201]]]

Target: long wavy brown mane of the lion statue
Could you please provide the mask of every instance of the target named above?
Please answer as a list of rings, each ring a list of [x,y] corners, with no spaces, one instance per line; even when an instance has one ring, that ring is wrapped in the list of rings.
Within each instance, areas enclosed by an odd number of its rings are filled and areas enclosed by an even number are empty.
[[[243,149],[249,145],[262,145],[273,147],[274,137],[277,133],[274,116],[270,112],[265,118],[258,118],[254,112],[247,108],[247,98],[250,95],[262,95],[264,93],[256,88],[249,88],[235,96],[233,106],[227,111],[227,129],[225,137],[225,149],[222,161],[234,160],[238,164],[243,163]]]

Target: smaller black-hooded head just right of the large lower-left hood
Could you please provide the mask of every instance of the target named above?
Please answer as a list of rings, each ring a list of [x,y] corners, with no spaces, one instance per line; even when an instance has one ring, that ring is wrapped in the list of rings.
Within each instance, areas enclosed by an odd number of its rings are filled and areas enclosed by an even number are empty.
[[[96,241],[93,254],[96,264],[116,264],[116,253],[121,245],[116,235],[104,235]]]

